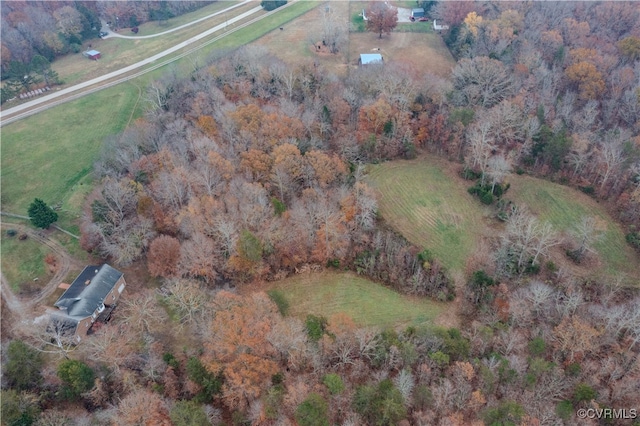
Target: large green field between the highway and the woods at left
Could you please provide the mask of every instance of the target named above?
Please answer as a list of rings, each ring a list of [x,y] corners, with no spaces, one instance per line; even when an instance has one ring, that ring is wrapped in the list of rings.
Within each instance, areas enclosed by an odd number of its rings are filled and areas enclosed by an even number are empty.
[[[3,127],[2,209],[26,214],[36,197],[55,205],[84,192],[104,138],[126,126],[138,97],[118,86]]]

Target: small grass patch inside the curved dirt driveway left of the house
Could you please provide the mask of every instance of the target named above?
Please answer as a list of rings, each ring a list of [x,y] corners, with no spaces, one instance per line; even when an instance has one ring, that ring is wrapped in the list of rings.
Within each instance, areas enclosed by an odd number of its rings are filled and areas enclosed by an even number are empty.
[[[1,228],[2,274],[15,293],[39,290],[52,276],[44,262],[45,256],[51,253],[51,250],[30,238],[19,240],[19,233],[10,237],[7,235],[9,229],[11,225],[3,225]]]

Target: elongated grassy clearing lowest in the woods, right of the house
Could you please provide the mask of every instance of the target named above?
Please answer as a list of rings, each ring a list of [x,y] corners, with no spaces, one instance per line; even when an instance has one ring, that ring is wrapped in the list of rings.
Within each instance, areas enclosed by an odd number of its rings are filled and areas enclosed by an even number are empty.
[[[308,314],[329,318],[345,313],[361,326],[430,324],[446,306],[401,295],[351,273],[296,275],[271,283],[265,290],[270,289],[284,293],[290,315],[304,319]]]

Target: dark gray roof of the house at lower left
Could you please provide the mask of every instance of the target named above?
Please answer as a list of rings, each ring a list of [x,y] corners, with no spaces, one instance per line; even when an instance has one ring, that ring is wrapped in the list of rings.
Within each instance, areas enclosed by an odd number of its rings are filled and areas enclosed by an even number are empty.
[[[54,303],[54,306],[70,317],[86,318],[104,302],[105,297],[122,275],[122,272],[106,263],[102,266],[89,265]]]

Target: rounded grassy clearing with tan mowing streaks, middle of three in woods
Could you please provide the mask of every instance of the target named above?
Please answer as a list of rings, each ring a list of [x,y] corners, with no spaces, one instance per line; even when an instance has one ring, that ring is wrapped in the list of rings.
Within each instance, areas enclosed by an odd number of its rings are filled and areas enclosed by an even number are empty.
[[[453,163],[436,158],[391,161],[369,167],[383,219],[418,247],[429,249],[448,269],[463,271],[488,233],[490,210],[467,192]]]

